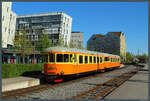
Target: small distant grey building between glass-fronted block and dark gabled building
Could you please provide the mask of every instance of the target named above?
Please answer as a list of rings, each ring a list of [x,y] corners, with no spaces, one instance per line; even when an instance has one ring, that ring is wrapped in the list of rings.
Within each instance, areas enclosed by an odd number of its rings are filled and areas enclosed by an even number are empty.
[[[83,32],[71,32],[70,42],[75,48],[83,48]]]

